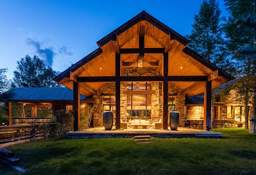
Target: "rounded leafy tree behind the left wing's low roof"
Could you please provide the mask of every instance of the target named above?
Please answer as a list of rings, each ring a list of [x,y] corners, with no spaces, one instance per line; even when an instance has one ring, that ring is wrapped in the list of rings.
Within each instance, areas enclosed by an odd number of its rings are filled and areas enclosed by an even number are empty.
[[[59,86],[52,79],[57,75],[51,67],[46,66],[37,56],[26,55],[17,62],[14,72],[13,87],[53,87]]]

